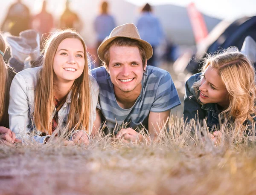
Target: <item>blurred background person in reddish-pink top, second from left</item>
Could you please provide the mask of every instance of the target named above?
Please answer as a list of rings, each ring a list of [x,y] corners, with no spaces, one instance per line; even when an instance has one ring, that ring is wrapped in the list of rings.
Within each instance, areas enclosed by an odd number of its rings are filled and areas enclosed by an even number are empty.
[[[53,28],[53,17],[47,9],[47,1],[43,1],[42,10],[39,14],[35,15],[32,20],[32,27],[36,31],[38,31],[41,43],[48,37],[49,33],[52,31]]]

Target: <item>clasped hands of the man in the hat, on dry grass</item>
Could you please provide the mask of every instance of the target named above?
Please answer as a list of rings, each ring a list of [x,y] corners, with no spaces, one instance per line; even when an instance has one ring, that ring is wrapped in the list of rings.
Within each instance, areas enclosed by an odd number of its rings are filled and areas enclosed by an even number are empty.
[[[134,129],[131,129],[130,127],[127,129],[121,129],[116,134],[117,139],[123,139],[124,143],[130,143],[130,142],[136,142],[142,140],[142,135],[140,135],[138,132],[134,131]]]

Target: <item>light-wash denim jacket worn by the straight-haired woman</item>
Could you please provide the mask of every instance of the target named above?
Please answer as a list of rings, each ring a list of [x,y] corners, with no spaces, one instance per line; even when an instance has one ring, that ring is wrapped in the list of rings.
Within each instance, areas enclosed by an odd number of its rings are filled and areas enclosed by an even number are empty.
[[[35,88],[42,67],[26,69],[15,75],[10,88],[9,101],[9,124],[12,132],[15,132],[16,137],[25,141],[33,136],[34,141],[44,143],[45,138],[40,136],[41,132],[35,129],[33,124],[32,114],[35,110]],[[90,76],[91,86],[91,115],[88,132],[91,132],[93,122],[96,119],[96,106],[99,95],[99,85],[97,81]],[[58,112],[58,123],[66,123],[71,103],[71,92],[67,95],[66,102]],[[52,118],[56,113],[52,113]],[[51,119],[52,119],[51,118]]]

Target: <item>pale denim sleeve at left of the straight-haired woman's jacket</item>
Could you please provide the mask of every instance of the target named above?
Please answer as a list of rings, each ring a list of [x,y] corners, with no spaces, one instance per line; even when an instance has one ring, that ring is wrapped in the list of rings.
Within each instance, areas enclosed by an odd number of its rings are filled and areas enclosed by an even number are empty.
[[[9,125],[12,132],[15,132],[16,137],[25,141],[31,139],[32,129],[29,127],[29,105],[28,96],[26,92],[26,80],[22,74],[15,75],[12,80],[10,88],[10,100],[9,100]],[[33,141],[38,143],[44,143],[45,138],[49,136],[41,137],[39,135],[33,136]]]

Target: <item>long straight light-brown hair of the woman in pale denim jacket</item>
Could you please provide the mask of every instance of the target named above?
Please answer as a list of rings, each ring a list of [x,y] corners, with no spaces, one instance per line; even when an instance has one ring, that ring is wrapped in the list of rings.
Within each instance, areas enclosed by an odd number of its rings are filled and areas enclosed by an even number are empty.
[[[70,90],[72,90],[72,101],[70,112],[67,119],[67,129],[85,129],[88,130],[90,121],[90,78],[89,67],[86,54],[86,46],[83,38],[78,32],[72,29],[65,29],[55,32],[46,41],[44,47],[43,68],[38,78],[35,90],[35,112],[33,120],[41,132],[48,135],[52,134],[52,113],[54,112],[55,99],[53,95],[53,60],[57,48],[62,40],[66,38],[75,38],[81,41],[84,47],[84,71],[77,78]]]

